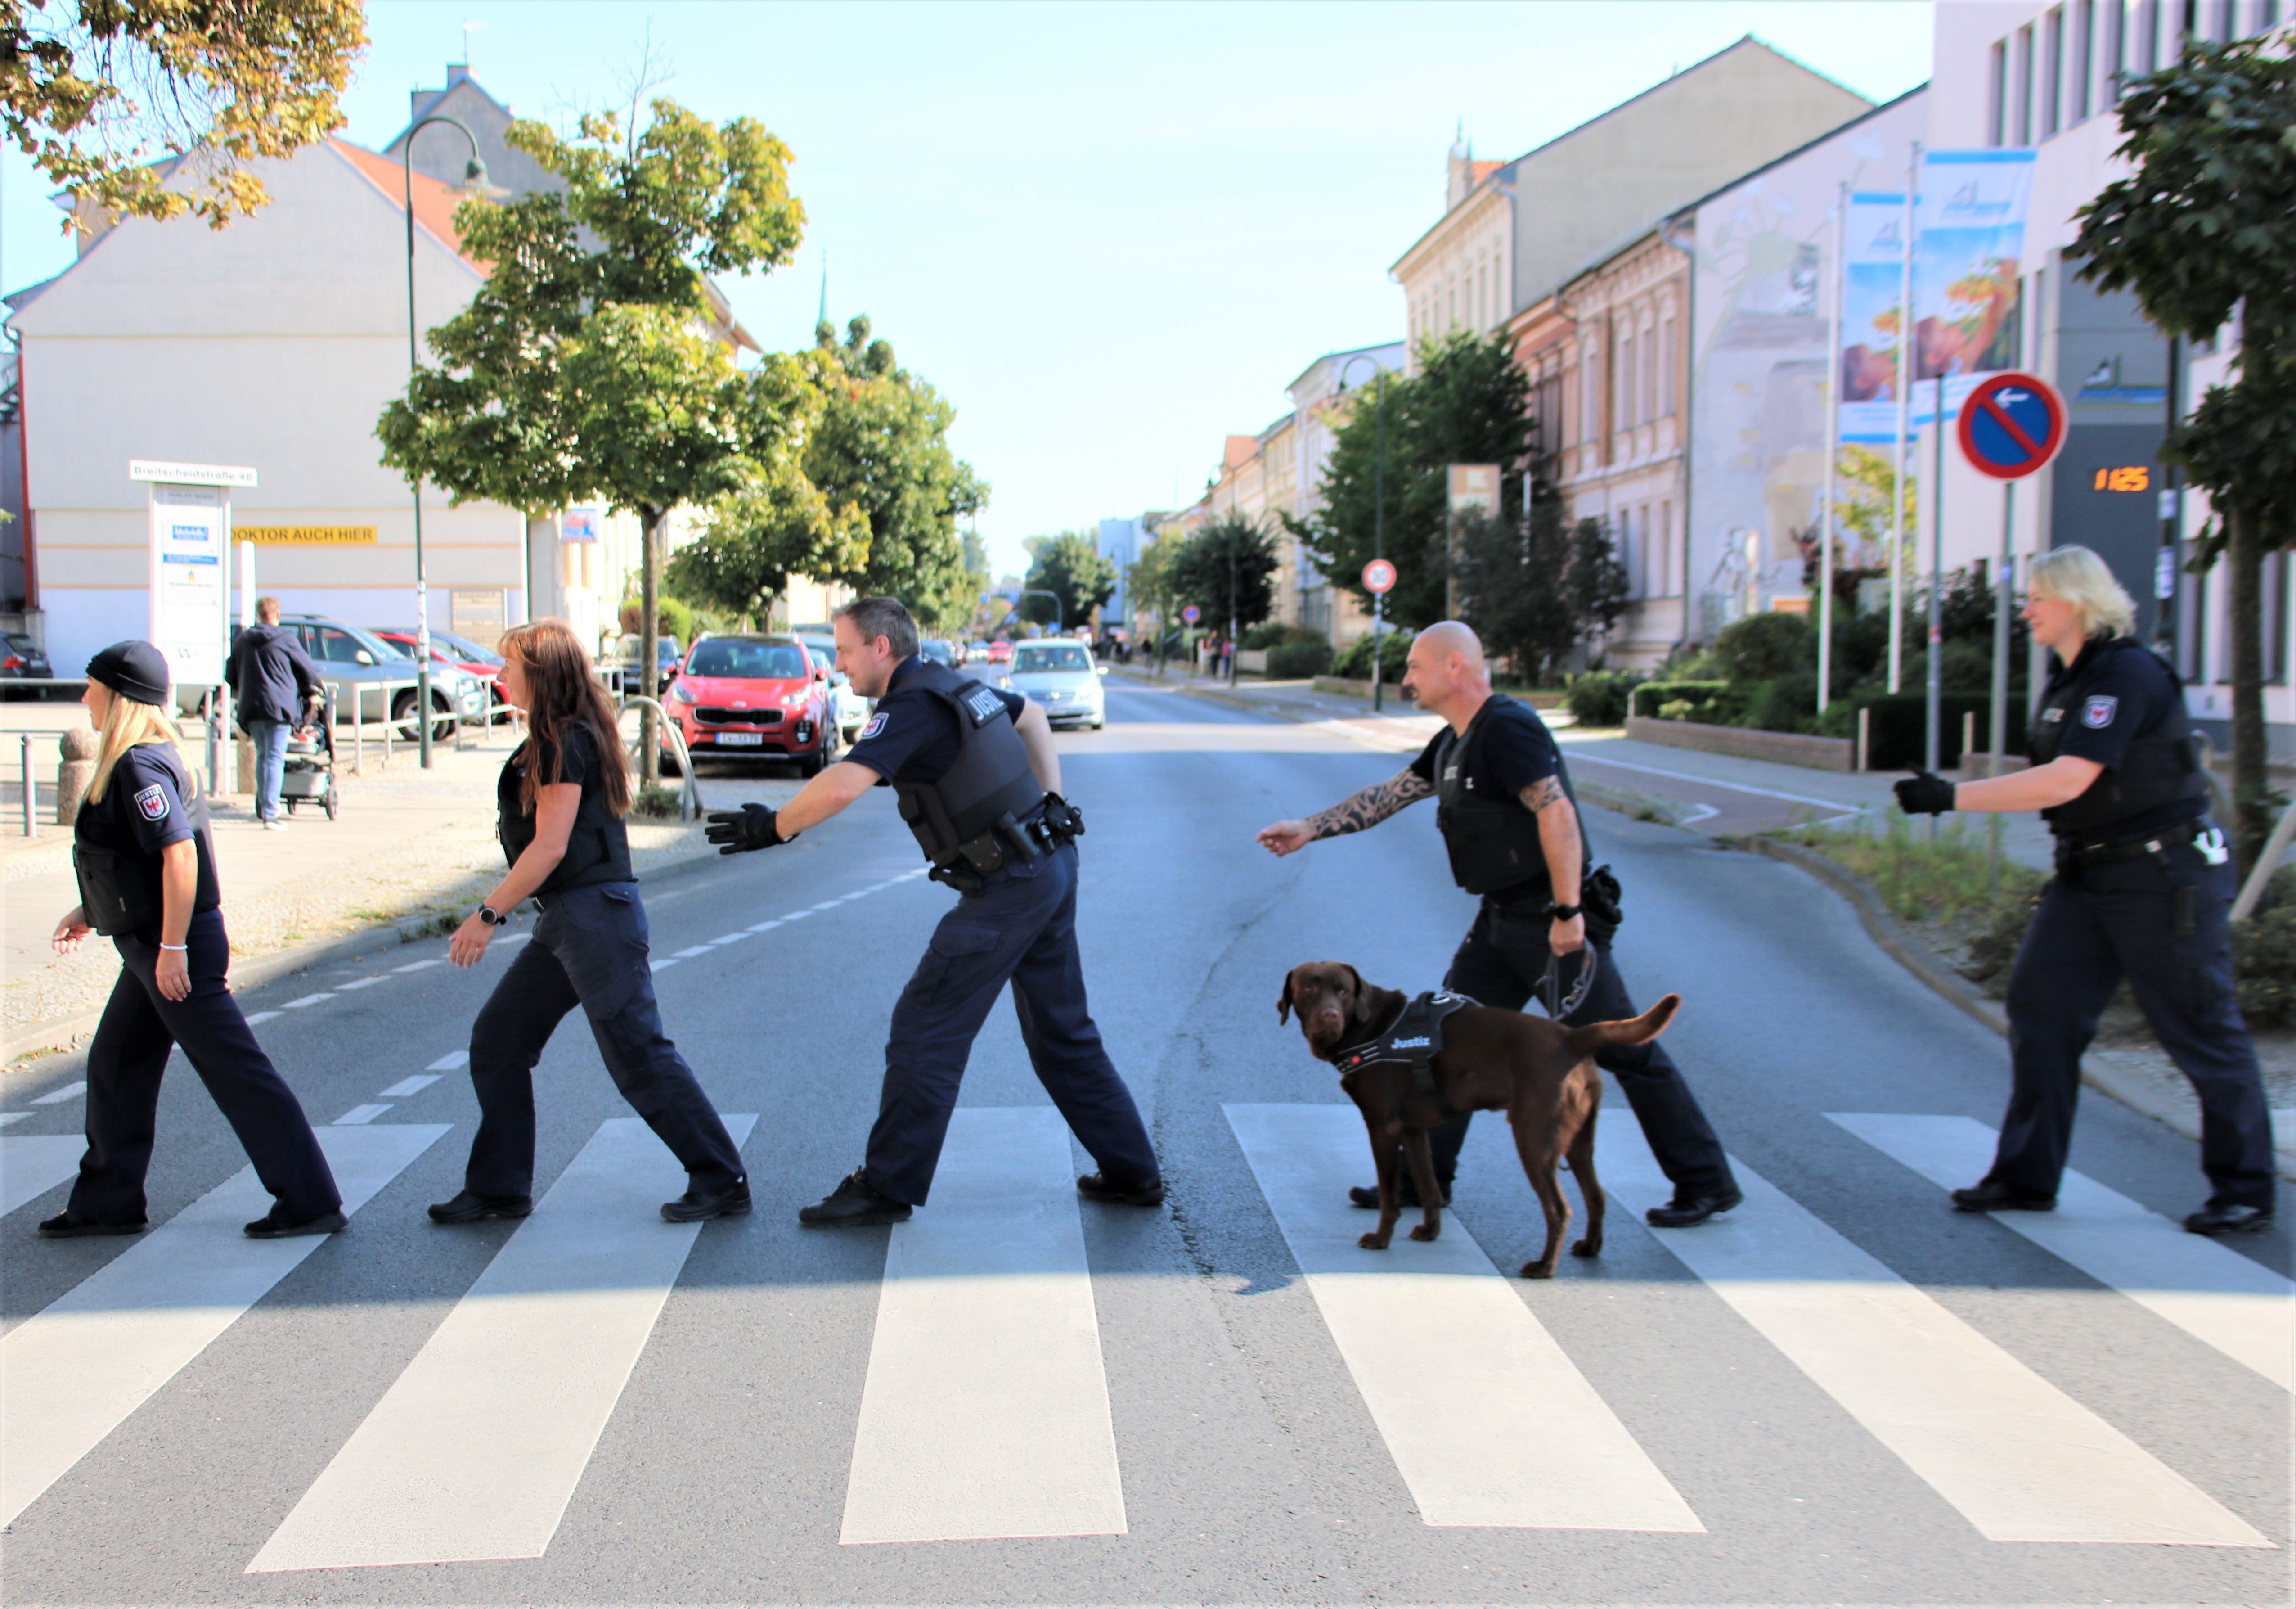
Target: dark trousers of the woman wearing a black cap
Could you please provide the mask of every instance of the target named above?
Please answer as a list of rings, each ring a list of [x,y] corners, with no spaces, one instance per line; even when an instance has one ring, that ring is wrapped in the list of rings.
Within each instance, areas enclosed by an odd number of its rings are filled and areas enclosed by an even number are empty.
[[[168,1051],[184,1060],[216,1099],[232,1134],[255,1164],[255,1177],[296,1223],[342,1205],[335,1175],[310,1132],[303,1102],[255,1042],[239,1001],[225,987],[232,941],[223,911],[197,911],[184,936],[191,994],[158,992],[158,939],[117,934],[119,982],[87,1047],[87,1155],[71,1187],[71,1210],[101,1223],[145,1221],[145,1173],[158,1120],[158,1083]]]

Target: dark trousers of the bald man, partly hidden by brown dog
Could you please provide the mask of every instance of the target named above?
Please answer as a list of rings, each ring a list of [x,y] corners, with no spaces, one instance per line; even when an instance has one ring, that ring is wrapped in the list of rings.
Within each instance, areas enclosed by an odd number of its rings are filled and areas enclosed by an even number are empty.
[[[1465,994],[1483,1005],[1520,1012],[1531,992],[1548,975],[1554,950],[1548,943],[1552,918],[1545,914],[1502,916],[1488,900],[1474,914],[1474,927],[1451,957],[1444,987]],[[1626,994],[1616,962],[1609,959],[1607,941],[1587,941],[1596,975],[1587,985],[1587,998],[1564,1017],[1573,1028],[1589,1021],[1621,1021],[1635,1017],[1635,1003]],[[1570,964],[1561,969],[1566,982],[1575,978]],[[1596,1054],[1596,1065],[1619,1081],[1626,1104],[1635,1109],[1635,1122],[1651,1143],[1651,1155],[1674,1184],[1676,1198],[1720,1196],[1736,1189],[1729,1157],[1713,1125],[1699,1111],[1697,1097],[1683,1083],[1681,1070],[1658,1040],[1649,1044],[1614,1044]],[[1435,1177],[1449,1189],[1458,1173],[1458,1150],[1467,1143],[1472,1113],[1453,1118],[1440,1129],[1428,1129],[1428,1145],[1435,1152]]]

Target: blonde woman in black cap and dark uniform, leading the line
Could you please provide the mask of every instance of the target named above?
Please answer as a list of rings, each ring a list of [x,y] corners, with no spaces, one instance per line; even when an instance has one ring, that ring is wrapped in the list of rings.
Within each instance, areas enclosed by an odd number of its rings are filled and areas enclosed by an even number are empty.
[[[145,1171],[168,1051],[184,1047],[255,1175],[276,1200],[246,1226],[255,1239],[340,1230],[342,1194],[303,1104],[280,1079],[225,987],[207,803],[165,714],[168,659],[113,643],[87,661],[87,714],[103,734],[96,776],[71,829],[80,904],[55,925],[55,953],[96,932],[119,950],[119,982],[87,1047],[87,1155],[71,1205],[39,1226],[48,1239],[145,1228]]]

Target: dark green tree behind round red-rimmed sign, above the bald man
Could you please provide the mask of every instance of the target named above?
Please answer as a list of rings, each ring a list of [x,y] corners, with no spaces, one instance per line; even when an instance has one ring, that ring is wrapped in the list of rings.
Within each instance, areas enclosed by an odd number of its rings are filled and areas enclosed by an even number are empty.
[[[1387,388],[1387,473],[1380,475],[1378,390]],[[1364,565],[1396,567],[1387,620],[1426,627],[1444,615],[1451,576],[1451,464],[1499,466],[1499,516],[1522,519],[1522,468],[1531,461],[1531,383],[1504,335],[1456,331],[1419,344],[1417,372],[1357,386],[1322,471],[1322,507],[1283,523],[1334,588],[1371,608]],[[1387,489],[1384,537],[1378,489]]]

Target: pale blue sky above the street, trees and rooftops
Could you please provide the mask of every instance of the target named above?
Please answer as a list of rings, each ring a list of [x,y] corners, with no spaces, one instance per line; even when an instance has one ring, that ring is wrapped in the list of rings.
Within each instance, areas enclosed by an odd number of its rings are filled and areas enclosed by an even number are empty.
[[[574,5],[383,0],[344,133],[471,62],[514,112],[661,90],[797,154],[801,262],[732,287],[767,347],[868,312],[957,406],[1019,539],[1194,498],[1318,353],[1396,340],[1387,266],[1442,211],[1444,149],[1515,156],[1756,34],[1876,101],[1929,76],[1926,0],[1538,5]],[[0,158],[0,280],[69,262],[46,186]],[[253,448],[250,448],[253,450]]]

